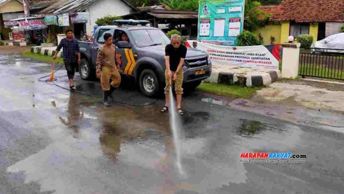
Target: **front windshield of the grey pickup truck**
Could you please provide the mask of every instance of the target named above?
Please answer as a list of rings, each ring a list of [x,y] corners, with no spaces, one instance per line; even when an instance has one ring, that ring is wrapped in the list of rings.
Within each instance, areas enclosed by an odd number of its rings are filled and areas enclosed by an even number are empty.
[[[166,34],[159,29],[130,30],[137,47],[149,47],[167,45],[171,41]]]

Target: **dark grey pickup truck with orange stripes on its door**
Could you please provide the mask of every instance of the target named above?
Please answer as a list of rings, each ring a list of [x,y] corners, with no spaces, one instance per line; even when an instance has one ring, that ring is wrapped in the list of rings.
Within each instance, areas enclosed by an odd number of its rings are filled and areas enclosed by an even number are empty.
[[[117,25],[100,26],[94,33],[93,43],[79,42],[82,79],[95,78],[96,57],[99,47],[104,44],[104,33],[113,34],[117,57],[121,61],[121,75],[134,78],[145,96],[161,94],[165,87],[165,46],[171,41],[160,29],[143,25],[121,25],[117,22]],[[121,42],[122,33],[128,35],[129,42]],[[183,68],[183,87],[194,89],[210,77],[212,62],[206,52],[188,48]]]

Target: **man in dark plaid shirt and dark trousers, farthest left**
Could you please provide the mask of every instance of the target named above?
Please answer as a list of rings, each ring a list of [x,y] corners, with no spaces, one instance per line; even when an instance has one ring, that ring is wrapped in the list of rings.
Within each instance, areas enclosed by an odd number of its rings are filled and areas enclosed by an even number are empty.
[[[74,88],[74,75],[75,75],[75,68],[81,61],[81,54],[79,43],[77,40],[74,39],[73,30],[66,30],[66,38],[62,39],[60,44],[57,46],[55,50],[55,54],[52,57],[55,59],[57,57],[57,53],[63,48],[63,63],[67,70],[67,75],[69,79],[69,88]],[[78,59],[77,59],[78,54]]]

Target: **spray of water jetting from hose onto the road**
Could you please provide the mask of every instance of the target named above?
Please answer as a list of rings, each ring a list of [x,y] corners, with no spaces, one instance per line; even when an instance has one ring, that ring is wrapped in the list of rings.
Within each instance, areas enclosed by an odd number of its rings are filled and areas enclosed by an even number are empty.
[[[172,130],[173,135],[173,143],[174,143],[174,150],[175,150],[175,157],[176,157],[176,166],[179,170],[179,174],[182,176],[186,176],[182,166],[181,166],[181,156],[180,156],[180,150],[181,150],[181,141],[180,141],[180,118],[178,116],[177,108],[175,106],[175,100],[172,93],[172,87],[169,87],[170,90],[170,127]]]

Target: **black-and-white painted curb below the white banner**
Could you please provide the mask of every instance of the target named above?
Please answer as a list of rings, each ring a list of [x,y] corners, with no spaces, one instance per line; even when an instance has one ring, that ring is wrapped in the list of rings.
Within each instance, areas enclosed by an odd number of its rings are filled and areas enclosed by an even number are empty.
[[[260,75],[241,75],[235,73],[224,73],[224,72],[212,72],[210,78],[205,80],[206,82],[215,84],[233,85],[238,84],[240,86],[268,86],[277,80],[282,78],[281,71],[278,69],[271,69],[266,73],[260,73]]]

